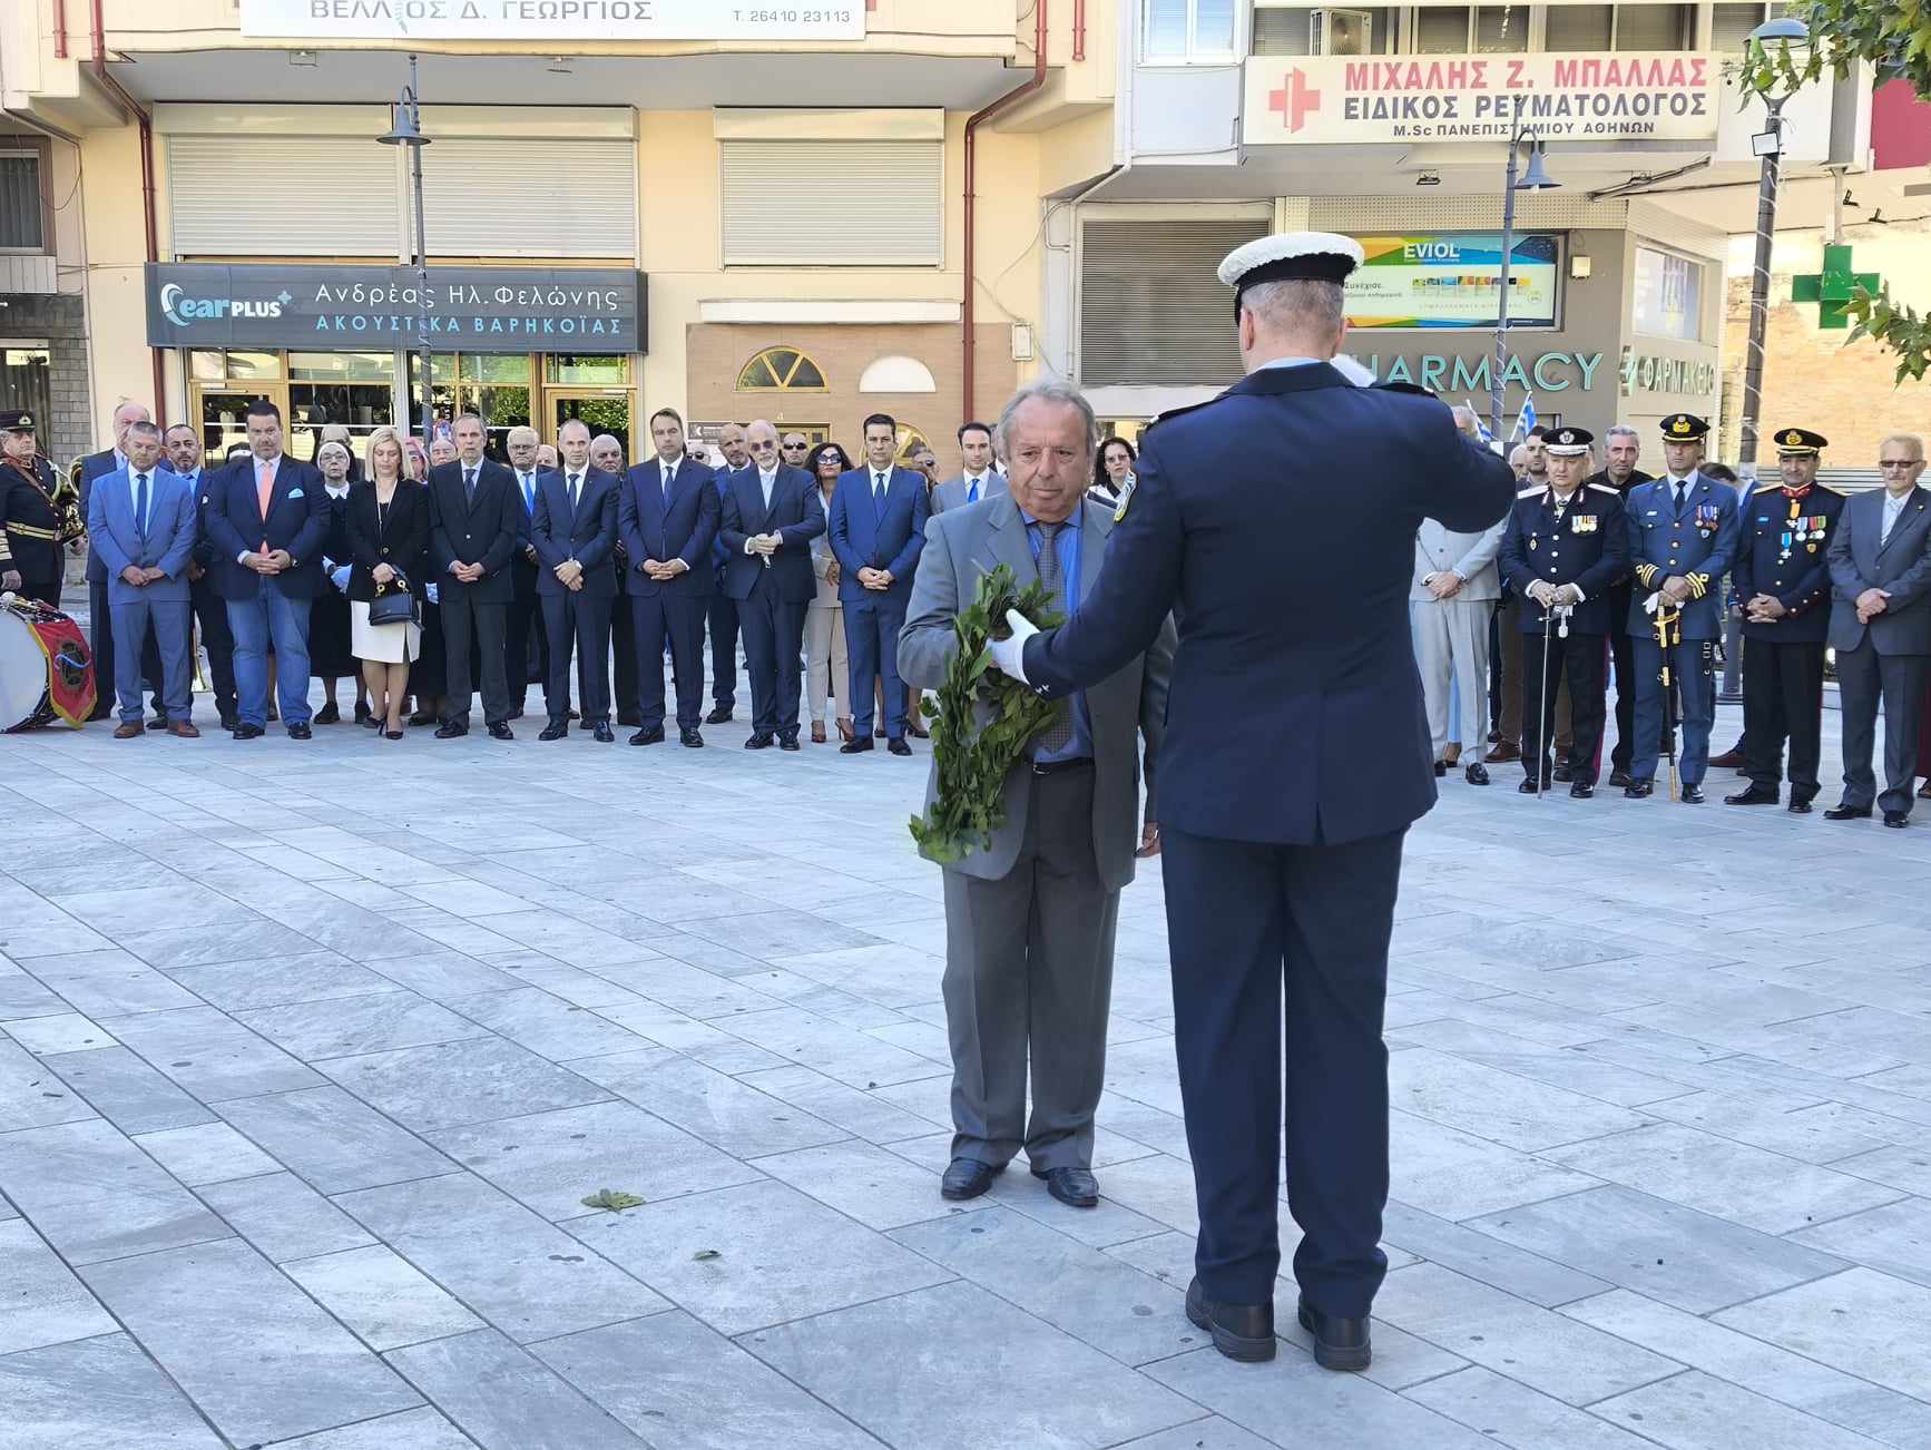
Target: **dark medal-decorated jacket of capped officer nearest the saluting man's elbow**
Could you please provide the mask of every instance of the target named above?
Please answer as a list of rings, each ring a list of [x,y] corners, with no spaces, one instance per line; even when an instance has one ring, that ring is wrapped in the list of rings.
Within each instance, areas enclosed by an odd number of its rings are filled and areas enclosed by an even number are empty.
[[[1622,496],[1607,483],[1585,483],[1556,516],[1554,488],[1524,488],[1508,510],[1497,564],[1520,599],[1522,633],[1543,633],[1543,610],[1529,599],[1529,585],[1572,583],[1581,602],[1570,612],[1570,633],[1607,635],[1620,626],[1610,602],[1614,587],[1630,577],[1630,539],[1622,523]]]

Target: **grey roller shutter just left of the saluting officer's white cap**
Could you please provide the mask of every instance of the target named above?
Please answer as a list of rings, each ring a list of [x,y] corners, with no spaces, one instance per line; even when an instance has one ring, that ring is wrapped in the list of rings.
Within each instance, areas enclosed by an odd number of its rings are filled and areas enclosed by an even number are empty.
[[[1263,218],[1087,220],[1079,251],[1079,382],[1215,386],[1242,375],[1234,297],[1215,268]]]

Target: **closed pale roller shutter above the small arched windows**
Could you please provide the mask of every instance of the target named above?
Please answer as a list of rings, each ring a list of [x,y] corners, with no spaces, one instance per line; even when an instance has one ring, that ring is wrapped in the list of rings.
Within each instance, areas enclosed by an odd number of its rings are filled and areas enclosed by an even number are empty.
[[[942,141],[720,141],[724,265],[944,263]],[[863,195],[836,226],[801,220],[794,197]],[[809,207],[807,207],[809,210]]]

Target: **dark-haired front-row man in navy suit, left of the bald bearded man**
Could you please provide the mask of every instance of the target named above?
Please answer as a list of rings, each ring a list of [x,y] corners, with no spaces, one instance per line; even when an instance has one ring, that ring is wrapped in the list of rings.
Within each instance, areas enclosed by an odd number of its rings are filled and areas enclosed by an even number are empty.
[[[657,458],[637,463],[618,498],[618,535],[630,556],[631,637],[637,641],[637,711],[631,745],[664,739],[664,637],[678,680],[678,739],[703,749],[705,600],[711,597],[711,544],[718,531],[718,488],[703,463],[684,452],[684,419],[651,415]]]

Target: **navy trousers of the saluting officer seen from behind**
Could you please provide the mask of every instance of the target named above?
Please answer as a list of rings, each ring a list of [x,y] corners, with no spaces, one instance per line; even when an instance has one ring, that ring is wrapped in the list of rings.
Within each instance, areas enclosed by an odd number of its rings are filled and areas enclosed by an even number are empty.
[[[1273,846],[1161,832],[1174,1043],[1201,1209],[1195,1269],[1209,1299],[1274,1297],[1282,1091],[1301,1292],[1327,1315],[1361,1319],[1386,1274],[1381,1023],[1406,834]]]

